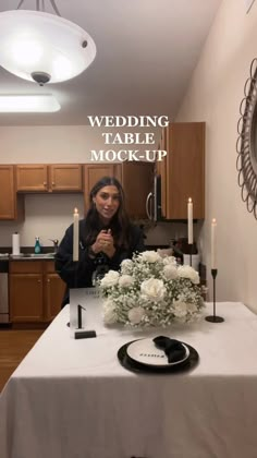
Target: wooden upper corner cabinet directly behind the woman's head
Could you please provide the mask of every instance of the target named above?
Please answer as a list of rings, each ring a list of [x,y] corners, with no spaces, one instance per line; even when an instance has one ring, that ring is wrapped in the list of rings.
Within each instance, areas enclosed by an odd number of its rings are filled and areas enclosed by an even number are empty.
[[[147,218],[146,197],[152,188],[152,162],[124,161],[85,165],[85,213],[89,208],[89,192],[102,177],[115,177],[120,181],[125,193],[126,210],[131,218]]]

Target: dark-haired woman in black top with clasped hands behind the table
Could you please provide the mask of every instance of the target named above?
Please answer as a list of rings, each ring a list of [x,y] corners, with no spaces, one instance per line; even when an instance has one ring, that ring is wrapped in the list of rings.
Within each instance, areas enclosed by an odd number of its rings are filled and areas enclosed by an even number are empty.
[[[66,229],[56,255],[56,270],[68,286],[63,305],[69,303],[69,288],[91,287],[96,277],[109,269],[118,270],[123,260],[145,250],[144,236],[130,222],[124,192],[115,178],[99,180],[89,201],[86,218],[79,221],[78,262],[73,262],[73,225]]]

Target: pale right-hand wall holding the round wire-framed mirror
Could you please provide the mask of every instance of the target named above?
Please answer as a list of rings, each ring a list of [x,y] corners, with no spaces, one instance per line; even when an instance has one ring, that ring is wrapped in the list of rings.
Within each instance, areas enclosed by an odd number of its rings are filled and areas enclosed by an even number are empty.
[[[210,221],[218,221],[218,299],[257,311],[257,220],[241,200],[236,124],[249,65],[257,57],[257,3],[223,0],[176,121],[206,121],[204,258],[210,268]],[[210,285],[210,279],[209,279]],[[221,311],[222,314],[222,311]]]

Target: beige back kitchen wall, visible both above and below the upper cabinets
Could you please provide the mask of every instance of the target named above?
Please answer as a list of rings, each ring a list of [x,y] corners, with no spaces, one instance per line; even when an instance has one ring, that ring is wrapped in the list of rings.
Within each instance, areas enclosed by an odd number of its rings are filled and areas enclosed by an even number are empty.
[[[119,129],[119,132],[122,131],[124,130]],[[155,132],[157,143],[159,130],[147,131]],[[101,132],[100,129],[88,125],[2,126],[0,164],[89,162],[90,149],[119,150],[118,145],[105,145]],[[145,148],[137,147],[140,150]],[[65,228],[72,222],[75,206],[83,216],[82,194],[26,194],[25,220],[20,224],[0,221],[0,246],[11,246],[12,233],[15,231],[20,232],[22,246],[33,246],[35,237],[40,237],[45,246],[51,245],[49,239],[62,239]],[[158,225],[148,231],[147,243],[169,244],[174,237],[186,237],[185,225]]]

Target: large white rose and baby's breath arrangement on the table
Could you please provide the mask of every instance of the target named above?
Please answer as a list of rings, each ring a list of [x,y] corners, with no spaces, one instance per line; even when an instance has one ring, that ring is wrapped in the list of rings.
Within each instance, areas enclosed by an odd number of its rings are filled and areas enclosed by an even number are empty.
[[[155,251],[124,260],[99,281],[106,324],[169,326],[197,320],[204,308],[199,275]]]

